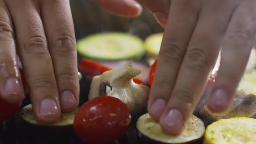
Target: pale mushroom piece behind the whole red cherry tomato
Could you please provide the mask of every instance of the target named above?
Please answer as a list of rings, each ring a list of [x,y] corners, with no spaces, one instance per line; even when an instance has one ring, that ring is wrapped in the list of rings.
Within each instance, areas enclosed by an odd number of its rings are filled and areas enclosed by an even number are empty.
[[[123,101],[131,113],[141,111],[148,102],[150,88],[133,82],[141,70],[126,63],[118,68],[96,75],[92,78],[89,100],[99,96],[113,96]]]

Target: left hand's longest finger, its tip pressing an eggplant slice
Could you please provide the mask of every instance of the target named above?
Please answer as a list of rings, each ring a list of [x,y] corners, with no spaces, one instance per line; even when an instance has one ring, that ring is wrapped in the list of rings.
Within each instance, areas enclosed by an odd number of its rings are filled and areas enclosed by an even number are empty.
[[[54,122],[60,118],[59,95],[39,5],[32,0],[11,0],[7,5],[13,16],[35,117],[41,123]]]

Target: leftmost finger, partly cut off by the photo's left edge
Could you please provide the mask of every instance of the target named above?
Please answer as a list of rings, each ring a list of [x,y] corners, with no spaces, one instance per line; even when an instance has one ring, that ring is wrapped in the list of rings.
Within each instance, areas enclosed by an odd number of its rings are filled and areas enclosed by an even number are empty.
[[[3,0],[0,0],[0,98],[10,103],[20,103],[24,98],[12,22]]]

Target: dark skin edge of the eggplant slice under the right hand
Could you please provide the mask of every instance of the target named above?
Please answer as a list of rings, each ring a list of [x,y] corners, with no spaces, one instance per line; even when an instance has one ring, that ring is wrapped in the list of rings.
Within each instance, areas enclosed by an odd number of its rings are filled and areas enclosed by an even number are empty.
[[[137,137],[138,137],[137,144],[173,144],[173,143],[163,143],[160,141],[155,141],[155,140],[145,136],[144,134],[141,134],[141,132],[138,130],[137,130]],[[203,144],[203,136],[198,139],[195,139],[193,141],[187,141],[185,143],[178,143],[178,144]]]

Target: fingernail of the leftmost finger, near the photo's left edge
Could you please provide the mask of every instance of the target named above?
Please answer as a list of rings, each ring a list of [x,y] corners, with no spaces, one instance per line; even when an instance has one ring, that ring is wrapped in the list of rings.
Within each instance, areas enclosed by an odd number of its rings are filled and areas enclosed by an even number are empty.
[[[22,90],[18,79],[9,78],[7,79],[3,91],[7,95],[21,95]]]

